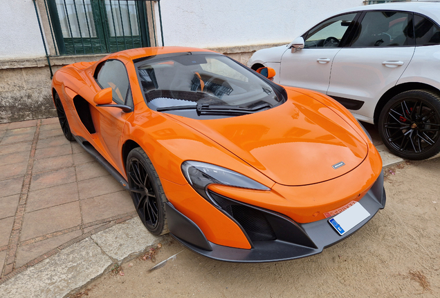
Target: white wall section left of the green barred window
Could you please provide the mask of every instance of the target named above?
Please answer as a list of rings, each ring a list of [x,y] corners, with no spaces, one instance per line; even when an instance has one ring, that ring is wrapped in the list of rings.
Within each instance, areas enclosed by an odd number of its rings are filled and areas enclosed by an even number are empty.
[[[0,59],[44,57],[32,0],[0,0]]]

